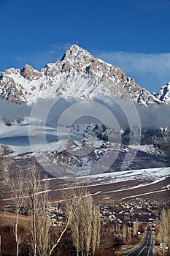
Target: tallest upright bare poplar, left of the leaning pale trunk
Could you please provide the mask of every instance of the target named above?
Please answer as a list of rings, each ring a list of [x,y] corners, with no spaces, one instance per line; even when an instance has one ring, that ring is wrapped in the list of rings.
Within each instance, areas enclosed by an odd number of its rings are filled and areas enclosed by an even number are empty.
[[[28,207],[30,208],[31,247],[34,256],[46,256],[50,250],[50,219],[47,179],[40,180],[36,165],[28,173]]]

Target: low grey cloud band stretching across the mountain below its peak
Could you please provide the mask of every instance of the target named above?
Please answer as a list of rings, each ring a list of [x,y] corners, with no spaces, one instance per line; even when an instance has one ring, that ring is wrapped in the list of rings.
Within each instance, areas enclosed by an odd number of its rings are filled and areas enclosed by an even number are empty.
[[[170,127],[170,108],[166,105],[143,107],[131,100],[98,97],[88,102],[80,99],[39,99],[33,106],[14,105],[0,100],[0,118],[15,120],[28,117],[41,120],[45,125],[71,126],[74,122],[103,123],[109,128]],[[90,118],[88,118],[90,117]]]

